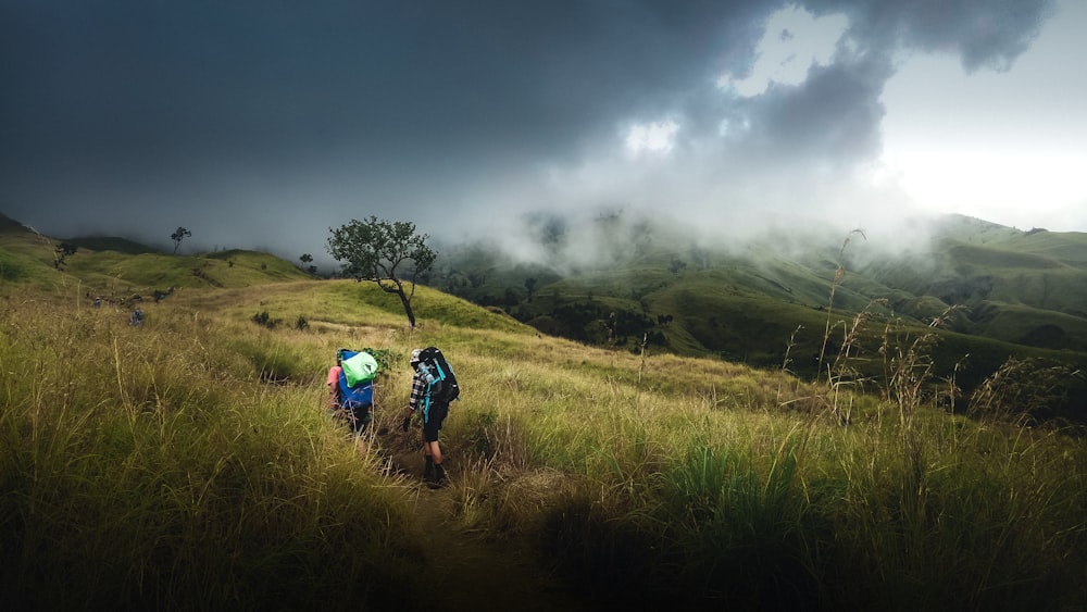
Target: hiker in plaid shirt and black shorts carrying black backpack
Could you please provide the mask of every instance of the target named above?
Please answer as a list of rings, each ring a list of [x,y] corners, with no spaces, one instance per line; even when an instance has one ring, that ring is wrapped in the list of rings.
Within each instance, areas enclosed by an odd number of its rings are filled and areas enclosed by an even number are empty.
[[[415,374],[412,376],[408,414],[404,415],[401,428],[407,432],[411,427],[412,416],[416,412],[422,413],[423,455],[426,461],[423,478],[428,484],[440,487],[446,483],[446,470],[441,466],[438,433],[449,414],[449,403],[460,396],[460,387],[452,367],[435,347],[413,350],[410,363]]]

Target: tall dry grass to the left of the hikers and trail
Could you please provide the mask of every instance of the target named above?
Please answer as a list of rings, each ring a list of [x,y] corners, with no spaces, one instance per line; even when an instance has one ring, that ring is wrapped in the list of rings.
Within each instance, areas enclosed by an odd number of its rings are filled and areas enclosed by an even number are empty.
[[[259,375],[301,344],[165,309],[136,328],[112,308],[2,308],[5,604],[418,604],[404,487],[313,385]]]

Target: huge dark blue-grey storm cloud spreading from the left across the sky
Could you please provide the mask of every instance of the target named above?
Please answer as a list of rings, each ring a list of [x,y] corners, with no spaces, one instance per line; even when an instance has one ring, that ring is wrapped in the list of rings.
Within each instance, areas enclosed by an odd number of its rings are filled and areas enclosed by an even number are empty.
[[[538,168],[594,172],[624,125],[666,116],[700,182],[729,161],[848,165],[878,154],[897,52],[1007,67],[1049,10],[809,0],[850,18],[833,64],[749,99],[715,87],[750,72],[785,5],[0,0],[0,207],[39,224],[93,209],[68,233],[202,224],[193,239],[218,243],[283,242],[266,232],[289,224],[317,251],[352,216],[546,205]],[[724,121],[747,132],[721,137]]]

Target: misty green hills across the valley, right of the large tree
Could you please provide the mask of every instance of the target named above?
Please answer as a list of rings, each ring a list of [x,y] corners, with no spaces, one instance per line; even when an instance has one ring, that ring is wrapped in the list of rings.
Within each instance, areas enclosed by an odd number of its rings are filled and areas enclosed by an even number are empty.
[[[967,396],[1009,359],[1087,371],[1087,235],[951,216],[926,229],[925,249],[887,255],[860,234],[699,246],[679,229],[650,235],[610,223],[625,240],[591,263],[570,264],[560,245],[547,276],[542,264],[513,266],[477,247],[451,252],[429,282],[548,334],[757,367],[780,367],[788,352],[790,370],[809,377],[826,374],[821,355],[853,332],[851,342],[872,360],[859,371],[877,374],[888,326],[944,338],[935,372]],[[1059,411],[1084,417],[1084,407],[1087,386],[1076,378]]]

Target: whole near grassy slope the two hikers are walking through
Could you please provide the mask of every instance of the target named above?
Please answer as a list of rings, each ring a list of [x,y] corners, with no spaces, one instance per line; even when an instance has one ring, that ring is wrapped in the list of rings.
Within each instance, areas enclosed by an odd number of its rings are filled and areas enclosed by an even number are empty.
[[[17,248],[2,252],[34,261]],[[85,254],[99,263],[77,266]],[[953,414],[952,389],[921,389],[939,388],[929,359],[958,353],[966,335],[934,342],[895,326],[882,345],[888,359],[870,377],[850,372],[871,364],[872,353],[835,341],[826,358],[833,376],[813,383],[783,367],[795,353],[753,369],[604,349],[539,335],[426,287],[416,296],[420,325],[410,329],[396,298],[372,284],[291,278],[287,268],[276,276],[274,262],[247,257],[137,266],[80,249],[65,271],[42,265],[50,283],[5,278],[5,603],[911,611],[1087,603],[1085,438],[1053,423],[1023,425],[1048,401],[1047,376],[1057,373],[1007,369],[978,384],[984,392],[969,415]],[[222,286],[191,274],[198,261]],[[117,270],[151,287],[188,284],[145,303],[145,325],[132,327],[127,305],[88,308],[73,291]],[[741,326],[787,312],[808,313],[821,333],[825,326],[817,307],[730,290],[723,292],[750,305],[717,311],[721,320],[762,309],[765,316]],[[720,307],[699,304],[701,291],[655,291],[637,303],[671,299],[712,328],[709,313]],[[592,302],[621,305],[612,299]],[[398,428],[410,391],[407,355],[432,344],[462,385],[441,438],[451,483],[438,490],[420,483],[417,429]],[[374,427],[361,439],[325,409],[325,372],[340,347],[387,358]]]

